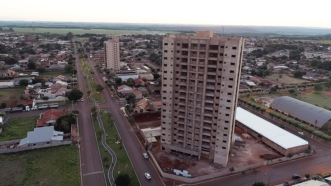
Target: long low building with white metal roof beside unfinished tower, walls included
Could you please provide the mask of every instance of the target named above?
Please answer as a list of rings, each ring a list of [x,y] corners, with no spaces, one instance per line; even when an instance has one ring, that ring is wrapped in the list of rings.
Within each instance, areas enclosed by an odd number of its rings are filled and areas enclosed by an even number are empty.
[[[240,107],[236,111],[236,125],[285,156],[308,148],[306,140]]]

